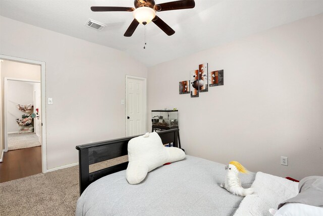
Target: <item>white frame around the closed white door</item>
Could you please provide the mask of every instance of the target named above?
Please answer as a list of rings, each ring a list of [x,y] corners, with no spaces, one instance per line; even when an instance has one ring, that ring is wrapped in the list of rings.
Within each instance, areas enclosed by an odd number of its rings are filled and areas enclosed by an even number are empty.
[[[143,81],[143,130],[147,131],[147,78],[145,77],[136,77],[136,76],[130,76],[126,75],[126,101],[125,101],[125,106],[126,106],[126,136],[128,136],[128,79],[137,79],[137,80],[142,80]]]

